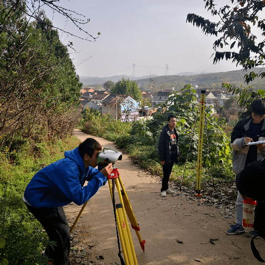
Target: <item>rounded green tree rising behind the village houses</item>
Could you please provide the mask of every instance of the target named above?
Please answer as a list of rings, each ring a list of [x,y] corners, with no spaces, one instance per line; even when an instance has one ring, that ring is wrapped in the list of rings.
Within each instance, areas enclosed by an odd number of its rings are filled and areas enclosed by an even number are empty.
[[[135,81],[123,78],[110,90],[111,94],[131,96],[134,100],[142,102],[141,91]]]

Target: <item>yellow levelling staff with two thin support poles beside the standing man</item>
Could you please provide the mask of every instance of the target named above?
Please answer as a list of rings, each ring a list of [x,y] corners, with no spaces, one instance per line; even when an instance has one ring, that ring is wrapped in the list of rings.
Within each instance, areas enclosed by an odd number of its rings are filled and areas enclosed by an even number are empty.
[[[205,90],[201,90],[200,91],[200,107],[199,107],[199,111],[197,112],[196,118],[195,118],[195,123],[194,123],[194,128],[193,128],[193,132],[192,132],[191,141],[190,141],[190,146],[189,146],[187,159],[186,159],[185,166],[184,166],[183,176],[182,176],[182,179],[181,179],[180,190],[181,190],[181,187],[182,187],[182,182],[183,182],[183,178],[184,178],[184,174],[185,174],[185,170],[186,170],[186,165],[187,165],[188,158],[189,158],[189,153],[190,153],[190,150],[191,150],[192,139],[193,139],[194,131],[195,131],[196,124],[197,124],[198,114],[199,114],[199,143],[198,143],[197,178],[196,178],[196,195],[195,196],[196,197],[202,197],[202,195],[200,193],[200,184],[201,184],[202,150],[203,150],[202,143],[203,143],[203,126],[204,126],[204,122],[205,122],[205,130],[206,130],[206,135],[207,135],[209,162],[210,162],[211,175],[212,175],[212,185],[214,187],[212,167],[211,167],[210,145],[209,145],[209,138],[208,138],[208,131],[207,131],[207,122],[206,122],[206,115],[205,115]]]

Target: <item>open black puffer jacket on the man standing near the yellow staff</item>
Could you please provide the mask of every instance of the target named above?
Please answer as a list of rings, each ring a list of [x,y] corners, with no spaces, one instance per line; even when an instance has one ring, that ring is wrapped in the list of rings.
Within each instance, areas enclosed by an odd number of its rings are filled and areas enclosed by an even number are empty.
[[[176,134],[176,140],[177,140],[176,156],[179,157],[180,156],[179,144],[178,144],[179,136],[175,128],[174,128],[174,132]],[[168,165],[170,163],[171,144],[170,144],[170,132],[169,132],[168,124],[162,128],[162,132],[160,133],[160,138],[158,142],[158,155],[159,155],[160,161],[165,161],[165,165]]]

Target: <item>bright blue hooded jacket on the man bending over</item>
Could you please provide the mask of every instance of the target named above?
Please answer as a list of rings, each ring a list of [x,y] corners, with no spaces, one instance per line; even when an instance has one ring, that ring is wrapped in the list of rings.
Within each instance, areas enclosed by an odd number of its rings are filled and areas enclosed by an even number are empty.
[[[84,186],[85,181],[89,181]],[[85,168],[78,147],[65,158],[41,169],[26,187],[24,199],[36,208],[55,208],[74,202],[83,204],[105,185],[107,178],[93,167]]]

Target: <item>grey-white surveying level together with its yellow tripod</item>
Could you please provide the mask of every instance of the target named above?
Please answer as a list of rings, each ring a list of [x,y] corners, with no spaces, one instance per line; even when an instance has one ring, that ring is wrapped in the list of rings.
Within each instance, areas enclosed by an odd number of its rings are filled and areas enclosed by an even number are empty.
[[[109,163],[112,163],[114,165],[117,160],[122,160],[122,153],[118,152],[117,150],[111,147],[104,147],[103,150],[99,152],[98,158],[97,158],[97,164],[98,164],[99,171],[102,168],[104,168],[106,165],[108,165]],[[141,236],[139,233],[140,228],[134,216],[132,206],[126,194],[126,191],[123,186],[117,167],[113,167],[113,170],[111,174],[107,177],[107,180],[109,183],[111,199],[113,202],[116,232],[117,232],[118,247],[119,247],[118,256],[121,260],[122,265],[138,265],[134,247],[133,247],[133,240],[131,237],[131,232],[130,232],[130,227],[129,227],[127,216],[131,222],[132,228],[135,230],[135,233],[137,235],[137,238],[139,240],[140,246],[143,251],[144,251],[145,240],[141,239]],[[117,204],[115,202],[115,186],[117,188],[117,192],[118,192],[119,200],[120,200],[120,203],[117,203]],[[83,204],[78,216],[76,217],[70,229],[70,233],[73,231],[73,228],[75,224],[77,223],[79,217],[81,216],[81,213],[83,209],[85,208],[87,202],[88,201],[86,201]],[[120,241],[122,244],[125,263],[121,255]]]

